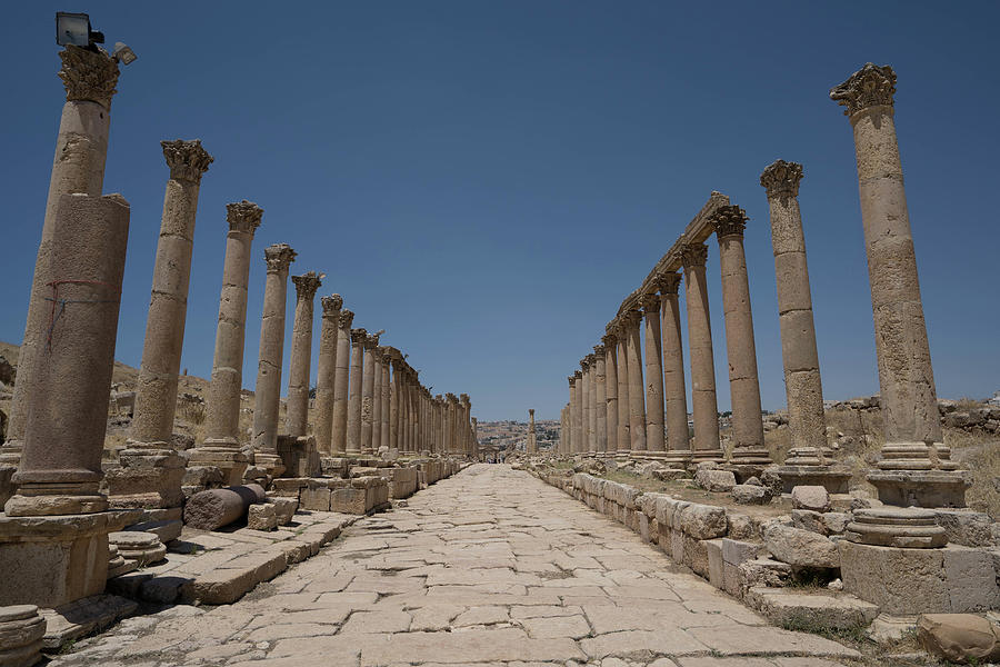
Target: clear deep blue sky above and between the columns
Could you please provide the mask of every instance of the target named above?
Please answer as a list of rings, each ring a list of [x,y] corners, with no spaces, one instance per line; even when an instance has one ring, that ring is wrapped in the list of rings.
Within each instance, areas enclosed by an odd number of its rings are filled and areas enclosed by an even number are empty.
[[[800,202],[827,398],[878,391],[850,125],[828,99],[866,61],[899,76],[897,127],[938,392],[1000,388],[996,2],[19,2],[4,7],[0,339],[18,342],[64,100],[56,10],[87,11],[123,68],[106,192],[132,205],[117,357],[139,365],[168,177],[161,139],[214,156],[183,366],[208,377],[229,201],[263,248],[328,275],[480,419],[558,418],[566,376],[711,190],[746,208],[763,405],[784,405],[763,167]],[[718,246],[708,275],[729,405]],[[293,290],[290,290],[293,293]],[[289,331],[292,301],[289,300]],[[319,308],[318,308],[319,310]],[[319,321],[317,321],[317,331]],[[288,337],[287,337],[288,339]],[[286,350],[287,385],[288,341]],[[687,354],[687,350],[686,350]],[[316,355],[313,355],[316,357]],[[686,356],[687,358],[687,356]],[[316,364],[313,362],[313,378]],[[690,405],[690,404],[689,404]]]

